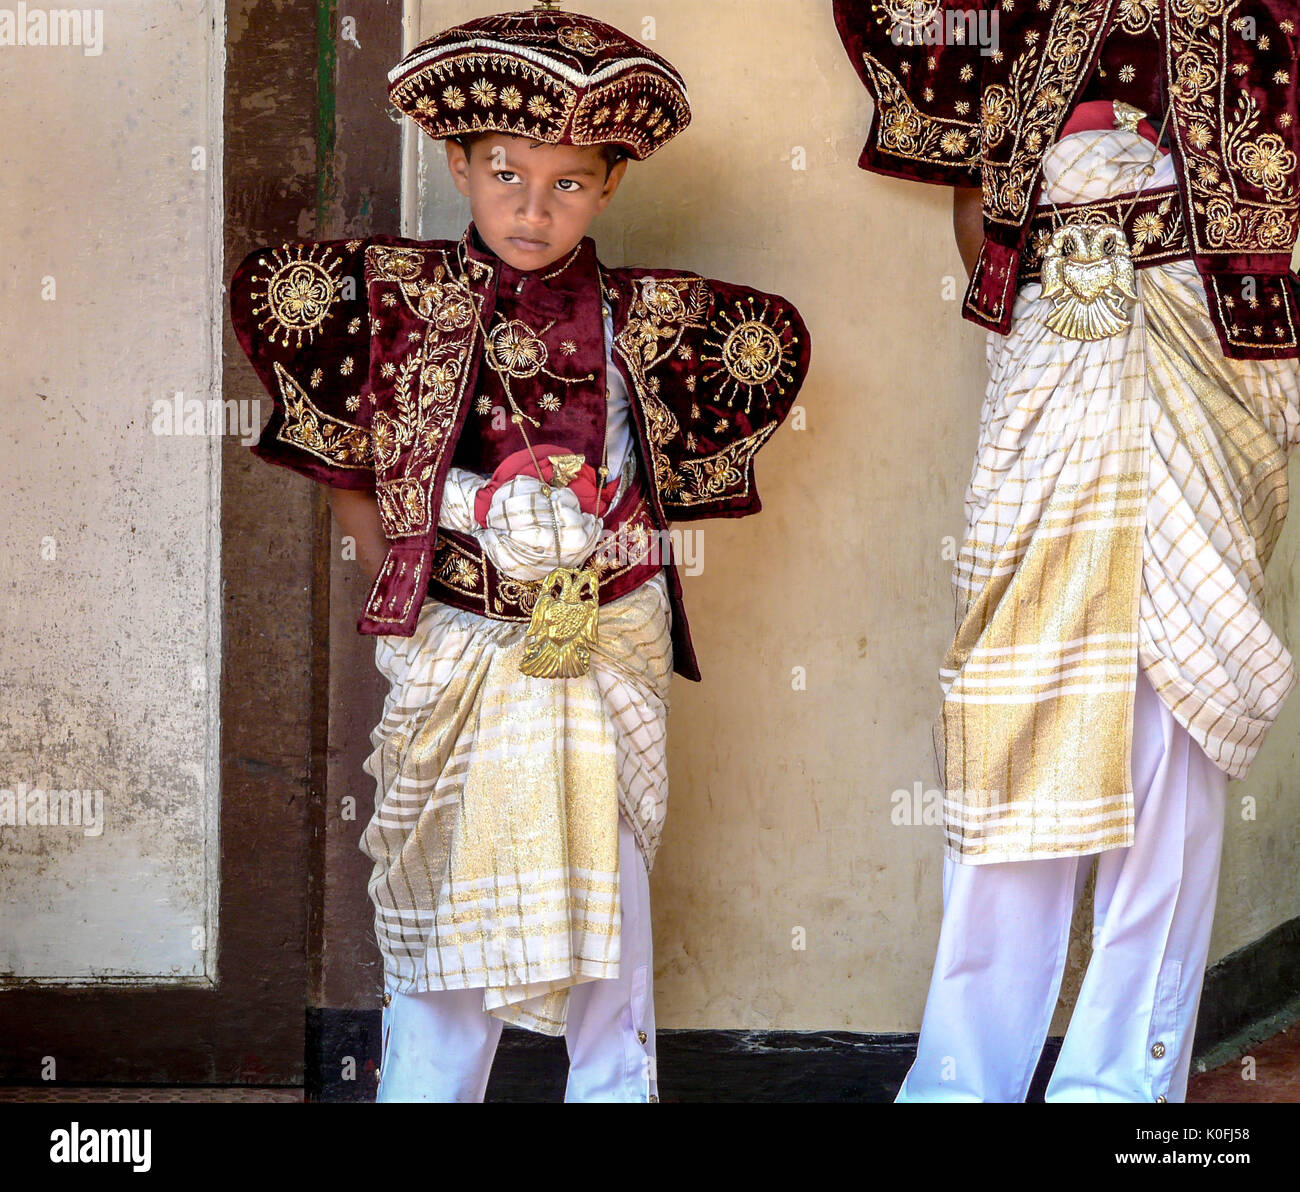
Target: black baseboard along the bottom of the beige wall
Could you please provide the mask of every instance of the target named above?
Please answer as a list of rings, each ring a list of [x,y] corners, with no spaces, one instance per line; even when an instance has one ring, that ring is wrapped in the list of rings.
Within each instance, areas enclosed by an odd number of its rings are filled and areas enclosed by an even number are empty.
[[[1268,1018],[1297,992],[1300,919],[1292,919],[1205,974],[1195,1053]],[[892,1101],[916,1050],[915,1033],[850,1031],[659,1031],[656,1043],[666,1102]],[[1060,1039],[1048,1040],[1030,1101],[1043,1100],[1060,1049]],[[308,1100],[373,1101],[378,1058],[378,1010],[308,1010]],[[560,1101],[567,1070],[563,1039],[507,1028],[488,1100]]]

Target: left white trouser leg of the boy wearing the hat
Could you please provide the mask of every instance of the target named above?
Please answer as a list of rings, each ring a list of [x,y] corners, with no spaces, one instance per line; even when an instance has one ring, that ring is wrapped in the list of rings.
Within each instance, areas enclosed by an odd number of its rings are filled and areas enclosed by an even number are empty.
[[[374,1100],[482,1101],[500,1030],[482,989],[390,993]]]

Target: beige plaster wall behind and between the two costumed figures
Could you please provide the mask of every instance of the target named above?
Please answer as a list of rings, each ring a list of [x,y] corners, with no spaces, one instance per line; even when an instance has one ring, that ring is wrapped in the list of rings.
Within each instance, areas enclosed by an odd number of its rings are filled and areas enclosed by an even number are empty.
[[[500,6],[412,0],[408,44]],[[962,533],[985,381],[984,333],[958,313],[949,192],[857,168],[870,101],[826,0],[571,6],[668,57],[696,113],[632,164],[593,229],[601,259],[775,290],[812,334],[806,429],[759,456],[764,511],[703,523],[703,572],[686,580],[705,679],[672,692],[659,1026],[915,1030],[941,835],[892,824],[890,796],[937,785],[945,539]],[[407,164],[407,233],[458,237],[468,208],[442,147],[412,133]],[[1283,634],[1300,617],[1295,521],[1269,588]],[[1231,788],[1212,959],[1300,914],[1297,731],[1300,698]],[[1248,794],[1253,822],[1236,814]],[[1078,958],[1066,1000],[1076,980]]]

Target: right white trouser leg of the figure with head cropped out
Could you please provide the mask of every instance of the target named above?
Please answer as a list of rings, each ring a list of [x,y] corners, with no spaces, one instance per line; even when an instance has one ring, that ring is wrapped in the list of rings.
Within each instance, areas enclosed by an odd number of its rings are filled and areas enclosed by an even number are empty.
[[[1097,861],[1093,950],[1048,1101],[1182,1101],[1205,976],[1227,776],[1144,675],[1134,844]]]

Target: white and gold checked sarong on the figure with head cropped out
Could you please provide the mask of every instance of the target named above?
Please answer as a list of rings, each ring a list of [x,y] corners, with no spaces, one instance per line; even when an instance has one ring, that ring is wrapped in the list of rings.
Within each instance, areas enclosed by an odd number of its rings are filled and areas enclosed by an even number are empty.
[[[1150,155],[1138,134],[1072,134],[1045,159],[1045,200],[1131,192]],[[1171,181],[1165,159],[1149,186]],[[988,335],[936,725],[956,861],[1132,844],[1139,667],[1236,779],[1296,682],[1262,598],[1300,369],[1226,359],[1190,260],[1136,289],[1131,330],[1108,339],[1052,331],[1037,283]]]

